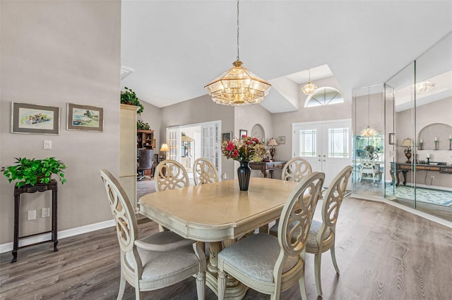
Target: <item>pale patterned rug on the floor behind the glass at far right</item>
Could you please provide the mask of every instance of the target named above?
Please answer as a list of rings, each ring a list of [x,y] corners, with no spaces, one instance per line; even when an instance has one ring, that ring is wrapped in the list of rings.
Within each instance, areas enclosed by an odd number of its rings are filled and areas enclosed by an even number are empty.
[[[401,199],[412,199],[415,190],[413,187],[398,185],[396,186],[396,197]],[[386,195],[392,194],[393,186],[386,183]],[[452,192],[441,191],[439,189],[424,189],[422,187],[416,188],[416,201],[421,201],[429,204],[436,204],[442,206],[452,205]]]

